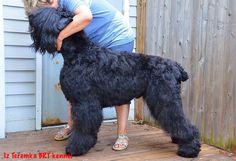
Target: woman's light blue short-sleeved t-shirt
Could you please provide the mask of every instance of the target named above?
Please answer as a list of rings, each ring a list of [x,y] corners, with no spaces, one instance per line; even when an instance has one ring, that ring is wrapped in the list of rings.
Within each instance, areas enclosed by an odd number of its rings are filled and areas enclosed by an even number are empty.
[[[59,6],[74,12],[87,5],[93,20],[84,29],[87,36],[104,47],[123,45],[134,40],[133,31],[124,16],[106,0],[60,0]]]

